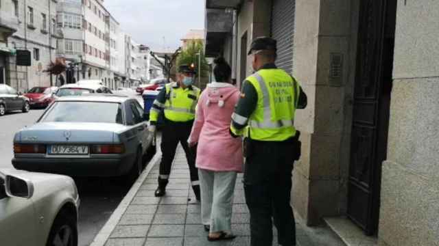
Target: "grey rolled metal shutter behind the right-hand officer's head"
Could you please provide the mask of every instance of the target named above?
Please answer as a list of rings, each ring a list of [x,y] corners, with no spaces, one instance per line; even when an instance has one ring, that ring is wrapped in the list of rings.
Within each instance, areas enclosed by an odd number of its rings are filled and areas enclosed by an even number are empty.
[[[278,68],[293,72],[294,13],[296,0],[273,0],[272,38],[277,40]]]

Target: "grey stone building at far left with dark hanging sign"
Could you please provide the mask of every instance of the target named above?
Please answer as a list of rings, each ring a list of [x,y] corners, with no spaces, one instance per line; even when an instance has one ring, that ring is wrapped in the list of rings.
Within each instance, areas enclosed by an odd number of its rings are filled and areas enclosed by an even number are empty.
[[[44,70],[55,57],[56,5],[53,0],[1,2],[0,83],[20,92],[54,83],[54,77]],[[31,66],[16,65],[16,50],[31,52]]]

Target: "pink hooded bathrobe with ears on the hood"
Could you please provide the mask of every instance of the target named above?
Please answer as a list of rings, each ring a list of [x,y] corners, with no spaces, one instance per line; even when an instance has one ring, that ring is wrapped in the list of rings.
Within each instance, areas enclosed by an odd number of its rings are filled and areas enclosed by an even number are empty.
[[[240,138],[230,136],[232,113],[239,90],[229,83],[210,83],[197,106],[189,143],[198,143],[196,166],[210,171],[242,172],[244,159]]]

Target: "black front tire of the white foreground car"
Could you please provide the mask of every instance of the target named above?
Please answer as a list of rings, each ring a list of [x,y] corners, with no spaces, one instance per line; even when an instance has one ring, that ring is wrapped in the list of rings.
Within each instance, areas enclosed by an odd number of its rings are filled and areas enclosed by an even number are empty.
[[[56,217],[49,233],[46,246],[77,246],[78,227],[76,219],[66,213],[60,213]]]

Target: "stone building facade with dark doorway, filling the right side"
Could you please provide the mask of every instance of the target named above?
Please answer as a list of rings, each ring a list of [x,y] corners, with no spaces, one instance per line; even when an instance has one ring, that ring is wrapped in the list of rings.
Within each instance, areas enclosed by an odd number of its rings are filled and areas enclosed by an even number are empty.
[[[292,205],[309,226],[438,245],[438,13],[436,1],[206,1],[206,53],[232,54],[243,81],[252,39],[276,38],[277,65],[308,95]]]

